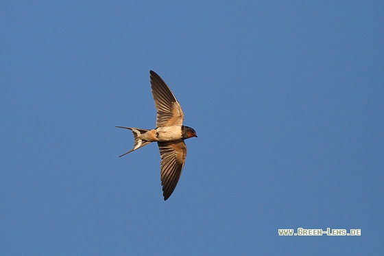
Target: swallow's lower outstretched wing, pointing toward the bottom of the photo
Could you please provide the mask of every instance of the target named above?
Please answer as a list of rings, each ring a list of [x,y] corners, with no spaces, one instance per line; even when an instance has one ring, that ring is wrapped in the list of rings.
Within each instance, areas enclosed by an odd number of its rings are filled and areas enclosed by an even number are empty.
[[[164,200],[167,200],[178,185],[187,156],[187,146],[183,140],[158,142],[158,149],[161,156],[161,185]]]

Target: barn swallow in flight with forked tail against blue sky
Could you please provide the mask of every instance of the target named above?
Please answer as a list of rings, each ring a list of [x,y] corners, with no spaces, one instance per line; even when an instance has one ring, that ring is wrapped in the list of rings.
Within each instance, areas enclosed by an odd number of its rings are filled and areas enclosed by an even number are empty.
[[[193,128],[182,125],[184,113],[164,80],[152,70],[149,73],[152,95],[157,109],[156,128],[147,130],[124,126],[116,127],[132,130],[134,135],[134,148],[121,156],[157,141],[161,156],[161,185],[163,186],[164,200],[167,200],[175,190],[182,167],[184,167],[185,156],[187,156],[187,146],[185,146],[184,139],[197,137],[197,135]]]

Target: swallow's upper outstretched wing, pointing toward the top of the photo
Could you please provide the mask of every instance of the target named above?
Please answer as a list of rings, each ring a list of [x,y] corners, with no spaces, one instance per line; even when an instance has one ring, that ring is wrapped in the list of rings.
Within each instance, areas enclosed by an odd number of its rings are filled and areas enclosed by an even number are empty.
[[[154,71],[151,74],[151,88],[157,109],[156,128],[163,126],[181,126],[184,113],[167,84]]]

